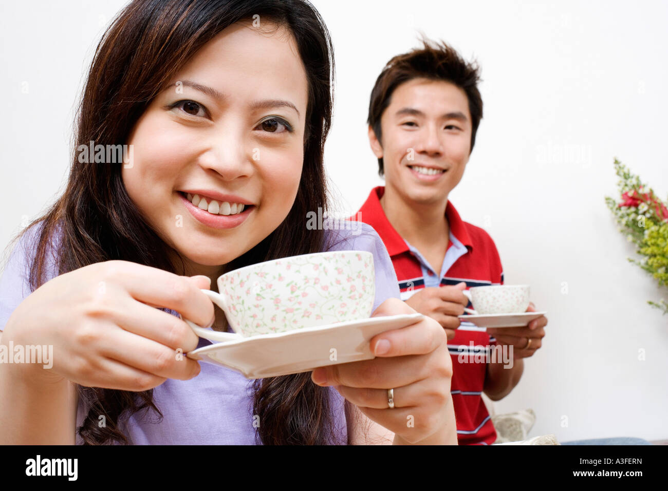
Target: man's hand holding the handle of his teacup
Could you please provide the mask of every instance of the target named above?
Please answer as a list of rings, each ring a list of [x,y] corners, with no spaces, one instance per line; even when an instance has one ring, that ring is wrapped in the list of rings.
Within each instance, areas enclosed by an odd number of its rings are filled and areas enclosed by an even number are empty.
[[[436,320],[446,331],[448,340],[455,337],[455,329],[460,326],[458,315],[464,313],[468,299],[462,293],[466,283],[448,287],[429,287],[418,290],[406,303],[421,314]]]

